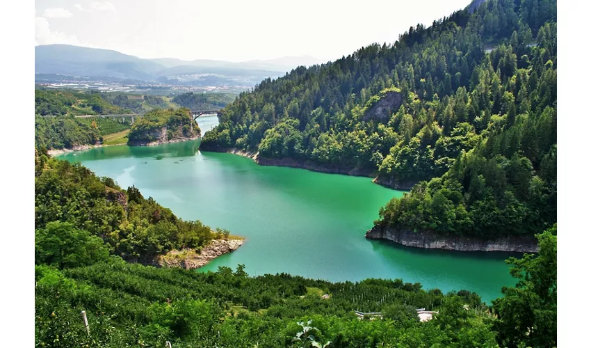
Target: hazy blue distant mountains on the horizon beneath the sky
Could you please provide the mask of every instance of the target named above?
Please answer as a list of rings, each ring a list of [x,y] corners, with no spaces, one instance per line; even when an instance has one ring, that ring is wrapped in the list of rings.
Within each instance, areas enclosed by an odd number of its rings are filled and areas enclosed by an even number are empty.
[[[65,74],[142,81],[163,81],[170,77],[192,74],[214,74],[226,77],[226,79],[228,77],[250,77],[261,81],[266,77],[282,76],[300,65],[310,66],[318,63],[322,62],[309,56],[233,63],[206,59],[195,61],[183,61],[176,58],[145,59],[111,49],[72,45],[35,47],[36,74]]]

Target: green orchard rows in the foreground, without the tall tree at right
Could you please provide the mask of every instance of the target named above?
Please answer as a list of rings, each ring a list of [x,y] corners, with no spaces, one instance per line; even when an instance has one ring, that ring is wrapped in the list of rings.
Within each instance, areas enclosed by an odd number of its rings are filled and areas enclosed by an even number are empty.
[[[95,340],[99,342],[95,346],[102,347],[129,342],[160,347],[165,341],[173,347],[245,347],[254,343],[259,347],[318,347],[314,342],[326,345],[329,341],[328,347],[396,341],[448,347],[470,347],[460,343],[467,340],[472,347],[495,343],[490,324],[473,310],[467,320],[455,326],[457,332],[438,325],[437,320],[419,323],[414,308],[437,310],[447,296],[401,280],[329,283],[288,274],[252,278],[224,267],[216,273],[197,273],[103,262],[63,271],[37,267],[35,281],[38,344],[51,345],[56,338],[66,344]],[[300,289],[305,292],[306,287],[330,292],[331,299],[300,297]],[[232,316],[236,305],[248,309]],[[408,308],[408,319],[365,321],[353,315],[353,310],[389,307]],[[88,315],[90,338],[83,337],[80,310]],[[465,311],[461,306],[460,310]]]

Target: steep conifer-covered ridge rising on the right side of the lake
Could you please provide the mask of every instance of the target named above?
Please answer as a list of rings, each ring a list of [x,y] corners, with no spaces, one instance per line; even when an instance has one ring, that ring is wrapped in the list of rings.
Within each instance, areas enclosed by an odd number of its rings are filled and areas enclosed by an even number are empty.
[[[531,236],[556,222],[556,74],[556,1],[485,1],[262,81],[202,149],[414,186],[381,210],[385,228]]]

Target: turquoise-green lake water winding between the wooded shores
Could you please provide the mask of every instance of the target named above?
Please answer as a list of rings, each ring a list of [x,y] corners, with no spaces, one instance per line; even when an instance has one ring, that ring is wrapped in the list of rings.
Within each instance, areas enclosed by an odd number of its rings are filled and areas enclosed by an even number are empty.
[[[217,119],[198,119],[202,133]],[[503,253],[408,248],[365,239],[378,209],[402,192],[367,177],[259,166],[252,159],[200,152],[199,141],[155,147],[95,148],[60,156],[97,175],[132,184],[183,219],[246,238],[200,271],[245,264],[251,275],[286,272],[332,281],[402,278],[430,289],[476,291],[485,301],[514,285]]]

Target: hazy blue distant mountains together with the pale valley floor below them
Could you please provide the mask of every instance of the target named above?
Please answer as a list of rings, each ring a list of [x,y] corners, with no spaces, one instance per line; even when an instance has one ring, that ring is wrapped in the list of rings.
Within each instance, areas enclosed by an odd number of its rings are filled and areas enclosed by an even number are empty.
[[[238,93],[300,65],[321,63],[309,56],[266,61],[213,61],[176,58],[144,59],[110,49],[72,45],[35,47],[35,83],[79,89],[138,91],[170,88]]]

